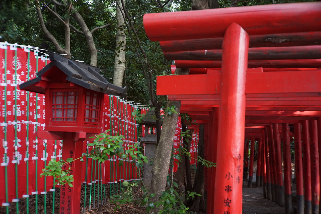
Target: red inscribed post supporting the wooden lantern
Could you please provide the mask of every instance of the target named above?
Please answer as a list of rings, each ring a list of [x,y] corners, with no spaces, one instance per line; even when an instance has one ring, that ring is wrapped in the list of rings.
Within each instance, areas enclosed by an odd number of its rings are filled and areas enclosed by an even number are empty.
[[[83,141],[71,141],[65,140],[63,142],[62,158],[79,158],[82,155]],[[81,145],[81,146],[79,146]],[[66,170],[70,167],[72,175],[74,175],[73,187],[65,184],[61,186],[60,192],[60,214],[79,214],[80,213],[80,192],[81,192],[81,174],[82,174],[82,162],[78,159],[70,163],[70,165],[64,166]],[[63,167],[63,169],[64,169]]]

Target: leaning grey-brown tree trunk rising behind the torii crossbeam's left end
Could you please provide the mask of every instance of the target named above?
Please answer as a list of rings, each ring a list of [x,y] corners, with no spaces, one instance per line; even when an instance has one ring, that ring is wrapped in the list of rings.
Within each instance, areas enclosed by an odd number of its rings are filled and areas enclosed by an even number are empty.
[[[175,73],[184,75],[189,73],[189,68],[177,68]],[[181,101],[168,100],[167,107],[176,106],[175,111],[179,113]],[[151,193],[155,193],[155,197],[151,198],[152,202],[158,201],[161,193],[165,191],[170,157],[172,153],[172,146],[174,143],[175,130],[177,125],[178,114],[171,115],[165,113],[163,121],[163,129],[160,134],[160,141],[158,143],[152,169],[152,185]],[[152,211],[158,213],[161,207],[153,209]]]

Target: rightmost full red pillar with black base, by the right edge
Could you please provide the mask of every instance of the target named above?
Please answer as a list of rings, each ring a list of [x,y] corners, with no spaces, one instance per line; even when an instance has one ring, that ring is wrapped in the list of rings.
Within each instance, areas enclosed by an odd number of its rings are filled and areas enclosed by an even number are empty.
[[[317,120],[309,121],[310,154],[311,154],[311,192],[312,213],[318,213],[320,203],[320,174]]]

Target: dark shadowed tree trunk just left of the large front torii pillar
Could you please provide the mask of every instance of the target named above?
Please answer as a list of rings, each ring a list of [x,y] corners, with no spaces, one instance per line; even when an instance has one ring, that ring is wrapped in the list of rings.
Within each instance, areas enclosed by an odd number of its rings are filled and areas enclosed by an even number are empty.
[[[198,155],[204,158],[204,125],[200,125],[200,135],[198,141]],[[193,200],[187,201],[190,210],[195,212],[206,212],[205,198],[204,198],[204,165],[198,164],[196,169],[195,181],[193,184],[193,191],[202,195],[195,196]]]

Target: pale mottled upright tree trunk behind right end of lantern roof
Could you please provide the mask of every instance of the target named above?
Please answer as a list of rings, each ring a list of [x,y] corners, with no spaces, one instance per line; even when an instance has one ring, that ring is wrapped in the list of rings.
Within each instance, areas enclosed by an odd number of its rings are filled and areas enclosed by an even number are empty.
[[[123,76],[125,72],[125,48],[126,48],[126,35],[124,31],[124,16],[121,12],[123,5],[120,0],[116,0],[116,19],[117,19],[117,31],[116,31],[116,51],[115,51],[115,67],[114,67],[114,79],[113,84],[122,87]]]

